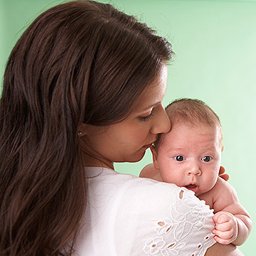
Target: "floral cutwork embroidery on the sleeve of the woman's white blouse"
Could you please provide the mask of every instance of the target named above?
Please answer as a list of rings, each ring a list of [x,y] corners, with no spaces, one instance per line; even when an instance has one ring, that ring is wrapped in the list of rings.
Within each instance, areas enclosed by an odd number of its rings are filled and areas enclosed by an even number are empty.
[[[215,243],[211,233],[213,210],[209,210],[204,201],[198,200],[186,188],[175,188],[173,196],[174,204],[170,207],[170,215],[154,223],[156,236],[146,240],[143,250],[146,255],[190,253],[188,256],[203,256],[206,249]],[[205,236],[200,235],[201,240],[193,240],[193,234],[202,228],[206,229],[202,233]]]

